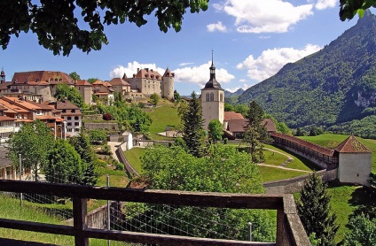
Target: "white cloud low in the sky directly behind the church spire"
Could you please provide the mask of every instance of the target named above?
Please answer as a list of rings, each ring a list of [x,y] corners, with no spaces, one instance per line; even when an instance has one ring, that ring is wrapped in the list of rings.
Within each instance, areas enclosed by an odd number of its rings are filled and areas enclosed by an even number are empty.
[[[209,67],[211,65],[211,61],[208,61],[207,64],[203,64],[200,66],[187,66],[183,68],[178,68],[174,70],[175,73],[175,81],[176,82],[192,82],[195,84],[199,84],[201,87],[204,87],[205,84],[210,79],[210,71]],[[228,83],[235,78],[234,75],[228,73],[227,70],[220,68],[215,69],[215,79],[221,83]]]

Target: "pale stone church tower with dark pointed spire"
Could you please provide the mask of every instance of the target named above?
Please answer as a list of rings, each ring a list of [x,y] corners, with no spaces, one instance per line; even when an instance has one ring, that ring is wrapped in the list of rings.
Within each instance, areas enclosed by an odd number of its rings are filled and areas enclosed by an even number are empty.
[[[215,66],[210,66],[210,80],[201,89],[202,117],[204,119],[205,130],[208,130],[209,122],[218,119],[223,124],[224,119],[224,90],[218,81],[215,80]]]

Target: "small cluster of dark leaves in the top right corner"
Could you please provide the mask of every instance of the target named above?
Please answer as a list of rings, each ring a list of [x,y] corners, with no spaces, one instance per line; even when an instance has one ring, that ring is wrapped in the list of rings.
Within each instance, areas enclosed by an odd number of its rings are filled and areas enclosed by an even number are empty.
[[[356,13],[363,18],[364,12],[376,7],[376,0],[340,0],[340,19],[353,19]]]

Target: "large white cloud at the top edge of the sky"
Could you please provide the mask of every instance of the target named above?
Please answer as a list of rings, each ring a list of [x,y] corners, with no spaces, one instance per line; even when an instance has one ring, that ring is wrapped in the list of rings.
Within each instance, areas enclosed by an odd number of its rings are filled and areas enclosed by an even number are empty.
[[[313,4],[294,6],[282,0],[227,0],[214,4],[219,12],[235,17],[240,33],[286,33],[298,21],[312,15]]]

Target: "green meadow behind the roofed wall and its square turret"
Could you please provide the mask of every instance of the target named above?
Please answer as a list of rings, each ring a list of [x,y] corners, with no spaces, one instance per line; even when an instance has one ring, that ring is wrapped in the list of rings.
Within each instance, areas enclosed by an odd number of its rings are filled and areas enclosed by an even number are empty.
[[[317,136],[301,136],[300,138],[305,141],[314,142],[328,149],[334,149],[348,137],[349,135],[324,134]],[[376,173],[376,140],[363,139],[361,137],[356,137],[356,139],[372,151],[372,173]]]

